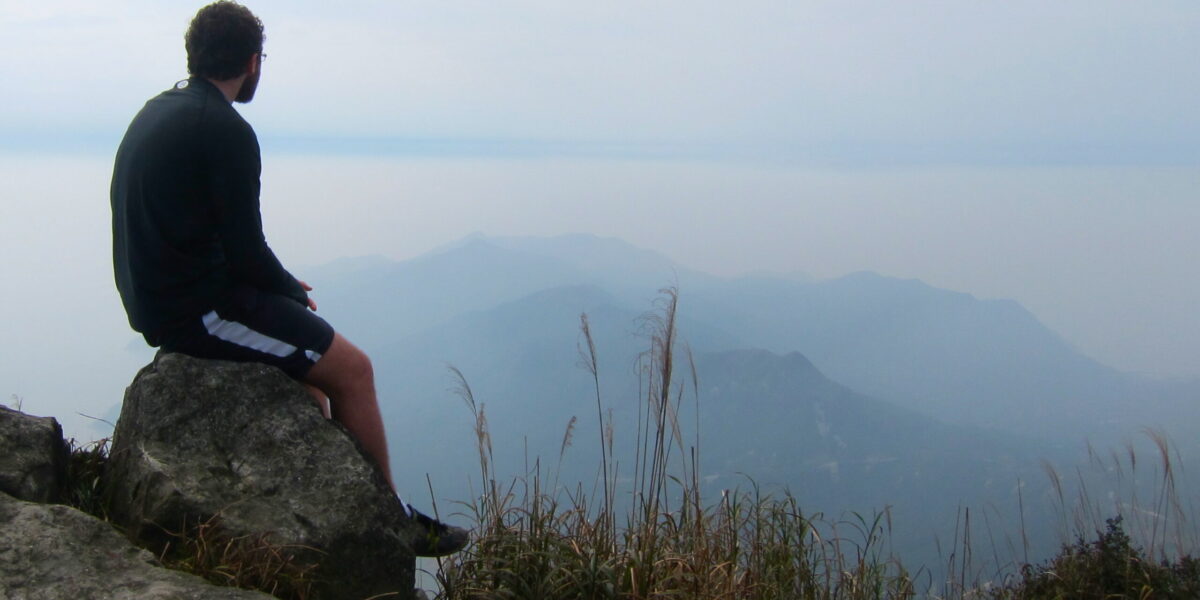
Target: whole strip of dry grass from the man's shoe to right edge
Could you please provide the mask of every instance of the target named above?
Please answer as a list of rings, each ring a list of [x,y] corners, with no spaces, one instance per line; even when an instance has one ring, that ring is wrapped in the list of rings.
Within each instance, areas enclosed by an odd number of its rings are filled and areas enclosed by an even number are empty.
[[[1148,503],[1146,486],[1136,470],[1150,467],[1145,461],[1139,467],[1132,446],[1123,456],[1115,457],[1117,464],[1099,461],[1093,454],[1092,467],[1103,478],[1088,480],[1080,470],[1078,485],[1064,482],[1048,464],[1063,539],[1073,535],[1075,544],[1064,544],[1061,553],[1045,564],[1030,564],[1026,506],[1020,497],[1020,542],[1009,544],[1013,557],[1001,565],[988,511],[972,515],[962,508],[950,556],[943,565],[947,580],[941,582],[931,581],[924,569],[910,571],[887,551],[892,530],[887,511],[871,516],[851,514],[840,520],[806,515],[788,492],[764,494],[752,481],[749,491],[702,498],[700,440],[685,445],[679,426],[684,402],[698,398],[690,353],[677,342],[677,306],[676,290],[664,290],[656,311],[643,319],[649,343],[638,362],[642,394],[636,460],[634,475],[624,486],[618,485],[611,412],[604,407],[596,347],[587,316],[581,317],[580,364],[595,384],[601,462],[600,481],[590,494],[582,485],[560,488],[557,469],[544,476],[536,460],[526,476],[504,484],[497,481],[484,407],[476,402],[466,377],[454,370],[458,394],[475,418],[484,493],[463,505],[474,522],[476,541],[439,563],[436,574],[442,587],[439,598],[1196,598],[1200,568],[1188,557],[1196,548],[1196,523],[1189,518],[1196,512],[1180,493],[1178,457],[1157,433],[1150,433],[1150,439],[1157,451],[1153,474],[1158,484]],[[686,360],[677,361],[677,356]],[[572,419],[559,462],[570,445],[574,425]],[[1114,474],[1115,485],[1123,488],[1108,487],[1104,478],[1111,479]],[[1088,493],[1090,485],[1103,493]],[[628,506],[624,515],[617,514],[617,506]],[[1134,539],[1145,541],[1135,544],[1120,527],[1114,530],[1112,523],[1120,526],[1120,520],[1109,521],[1108,530],[1100,528],[1111,515],[1132,515],[1128,518],[1136,529]],[[972,529],[980,529],[980,516],[982,533],[986,535],[974,540]],[[1084,541],[1093,533],[1096,541]],[[991,575],[982,575],[985,568],[979,566],[982,560],[977,558],[980,545],[986,545],[983,547],[990,550],[988,559],[995,563],[988,566],[994,569],[988,571]],[[1128,583],[1129,589],[1139,593],[1088,595],[1087,590],[1098,588],[1080,587],[1079,582],[1097,577],[1117,577],[1118,571],[1129,576],[1105,589],[1126,589],[1121,586]],[[924,586],[918,586],[918,581]]]

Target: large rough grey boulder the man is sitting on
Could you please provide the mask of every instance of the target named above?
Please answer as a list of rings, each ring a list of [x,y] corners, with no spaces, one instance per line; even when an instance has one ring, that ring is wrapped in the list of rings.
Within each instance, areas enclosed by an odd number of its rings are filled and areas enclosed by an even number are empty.
[[[373,462],[277,368],[160,353],[125,395],[107,482],[151,550],[212,517],[319,563],[322,598],[413,592],[415,524]]]

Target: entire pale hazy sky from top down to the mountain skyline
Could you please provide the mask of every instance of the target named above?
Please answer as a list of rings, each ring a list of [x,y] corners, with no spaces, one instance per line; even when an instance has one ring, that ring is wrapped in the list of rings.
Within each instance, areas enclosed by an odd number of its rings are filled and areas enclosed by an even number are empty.
[[[0,401],[133,340],[108,169],[199,5],[0,2]],[[1118,368],[1200,377],[1198,2],[247,5],[269,59],[239,109],[288,264],[590,232],[1013,298]]]

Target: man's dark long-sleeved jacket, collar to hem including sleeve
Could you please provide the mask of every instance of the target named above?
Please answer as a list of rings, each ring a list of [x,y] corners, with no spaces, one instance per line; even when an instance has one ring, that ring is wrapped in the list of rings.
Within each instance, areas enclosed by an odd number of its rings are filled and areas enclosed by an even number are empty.
[[[113,266],[130,325],[151,346],[238,283],[308,296],[268,247],[250,124],[203,78],[146,102],[116,151]]]

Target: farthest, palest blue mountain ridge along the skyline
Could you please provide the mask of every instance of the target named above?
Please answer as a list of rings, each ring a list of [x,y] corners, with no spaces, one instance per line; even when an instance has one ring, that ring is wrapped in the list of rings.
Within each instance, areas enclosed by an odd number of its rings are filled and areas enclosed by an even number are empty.
[[[680,316],[721,332],[692,341],[697,350],[800,352],[834,380],[948,422],[1066,444],[1144,426],[1166,426],[1177,438],[1200,433],[1200,385],[1120,373],[1012,300],[917,280],[721,278],[581,234],[476,234],[406,262],[335,263],[311,278],[322,282],[322,310],[368,348],[545,289],[593,286],[611,295],[608,305],[637,314],[659,288],[677,284]]]

